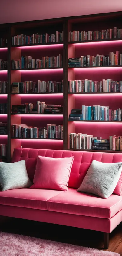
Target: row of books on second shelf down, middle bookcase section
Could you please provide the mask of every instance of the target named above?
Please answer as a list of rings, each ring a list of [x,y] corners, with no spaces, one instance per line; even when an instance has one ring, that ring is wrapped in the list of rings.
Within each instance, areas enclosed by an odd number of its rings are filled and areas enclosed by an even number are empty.
[[[63,58],[61,54],[56,57],[42,57],[41,59],[32,59],[31,56],[22,56],[21,59],[12,60],[12,69],[51,68],[62,66]]]

